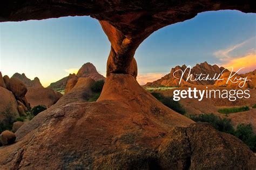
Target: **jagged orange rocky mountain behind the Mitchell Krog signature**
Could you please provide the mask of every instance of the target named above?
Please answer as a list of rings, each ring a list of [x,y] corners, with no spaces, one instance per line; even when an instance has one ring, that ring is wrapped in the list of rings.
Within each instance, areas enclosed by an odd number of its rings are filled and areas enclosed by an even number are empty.
[[[147,83],[145,86],[213,85],[215,83],[214,80],[191,81],[190,79],[188,79],[188,81],[186,81],[186,79],[189,74],[192,74],[192,79],[194,80],[196,78],[196,75],[200,73],[209,75],[210,77],[214,77],[215,74],[217,74],[218,76],[218,74],[220,74],[223,70],[224,72],[228,71],[228,70],[225,70],[224,67],[219,67],[217,65],[210,65],[207,62],[200,63],[192,67],[191,72],[190,72],[190,69],[186,69],[186,68],[187,68],[186,65],[176,66],[171,69],[171,72],[169,74],[165,75],[164,77],[156,81],[153,81],[152,83]],[[183,72],[185,71],[180,84],[179,84],[179,81],[180,81],[182,72],[177,70],[182,70]],[[206,77],[206,76],[203,76],[203,77]]]

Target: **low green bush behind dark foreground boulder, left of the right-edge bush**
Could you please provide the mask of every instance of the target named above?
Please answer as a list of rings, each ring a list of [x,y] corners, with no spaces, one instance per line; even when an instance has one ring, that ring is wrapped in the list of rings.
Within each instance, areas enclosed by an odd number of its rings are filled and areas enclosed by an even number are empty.
[[[211,113],[211,114],[200,114],[198,116],[196,115],[190,115],[192,120],[198,122],[208,122],[210,123],[216,130],[220,132],[230,133],[234,134],[234,128],[231,124],[231,119],[221,119],[217,115]]]

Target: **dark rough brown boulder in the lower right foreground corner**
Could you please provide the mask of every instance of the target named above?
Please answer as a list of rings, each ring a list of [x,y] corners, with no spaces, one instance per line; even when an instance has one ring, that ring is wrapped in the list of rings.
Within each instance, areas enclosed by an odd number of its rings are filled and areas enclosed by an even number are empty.
[[[216,131],[207,123],[173,128],[159,146],[159,160],[163,169],[256,167],[254,153],[242,141],[233,135]]]

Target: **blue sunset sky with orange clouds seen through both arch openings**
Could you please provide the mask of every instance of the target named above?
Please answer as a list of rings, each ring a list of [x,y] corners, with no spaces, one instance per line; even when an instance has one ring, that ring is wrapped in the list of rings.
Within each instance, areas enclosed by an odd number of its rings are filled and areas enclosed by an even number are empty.
[[[0,23],[0,71],[38,77],[44,86],[86,62],[105,76],[110,43],[96,19],[63,17]],[[234,10],[199,13],[154,32],[135,58],[138,81],[156,80],[176,65],[209,64],[256,69],[256,15]]]

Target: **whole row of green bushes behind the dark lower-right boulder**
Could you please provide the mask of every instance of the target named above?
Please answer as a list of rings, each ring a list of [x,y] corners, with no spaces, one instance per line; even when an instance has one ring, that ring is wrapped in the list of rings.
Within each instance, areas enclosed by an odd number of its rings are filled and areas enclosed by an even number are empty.
[[[251,124],[239,124],[237,130],[234,130],[231,125],[231,119],[221,119],[217,115],[211,114],[200,114],[200,115],[186,115],[192,120],[198,122],[208,122],[216,130],[234,135],[235,137],[242,140],[253,152],[256,152],[256,134],[253,133]]]

